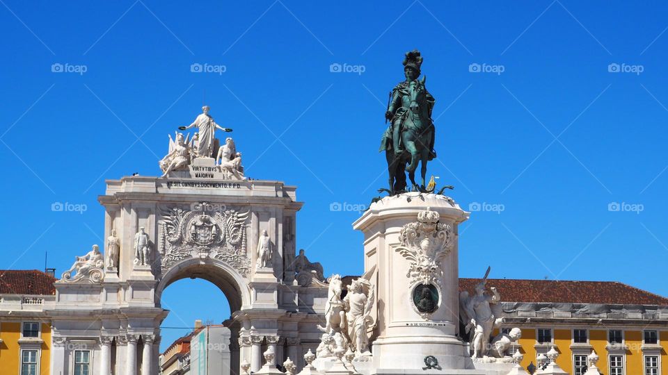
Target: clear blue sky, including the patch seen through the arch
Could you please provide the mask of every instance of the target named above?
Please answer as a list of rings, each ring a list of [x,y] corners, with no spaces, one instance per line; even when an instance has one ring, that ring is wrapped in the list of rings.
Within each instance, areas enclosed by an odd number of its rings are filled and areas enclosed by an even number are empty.
[[[359,274],[359,213],[331,205],[385,187],[384,107],[417,48],[436,97],[429,173],[481,208],[460,276],[668,295],[667,16],[660,1],[4,1],[0,269],[42,269],[48,251],[60,273],[101,243],[104,179],[159,174],[166,135],[205,102],[249,176],[299,186],[298,248]],[[205,284],[166,291],[166,325],[228,316]]]

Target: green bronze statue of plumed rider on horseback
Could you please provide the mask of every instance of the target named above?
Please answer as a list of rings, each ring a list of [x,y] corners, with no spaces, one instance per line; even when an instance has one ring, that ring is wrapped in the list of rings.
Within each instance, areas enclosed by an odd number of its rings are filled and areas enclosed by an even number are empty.
[[[390,103],[385,111],[385,119],[390,127],[383,134],[380,151],[385,151],[390,174],[390,191],[398,194],[406,190],[406,169],[413,188],[424,191],[427,162],[436,158],[434,151],[434,122],[431,110],[435,99],[425,87],[425,77],[421,80],[420,51],[406,52],[404,76],[390,93]],[[415,183],[415,169],[420,163],[422,183]],[[408,166],[406,166],[408,165]]]

